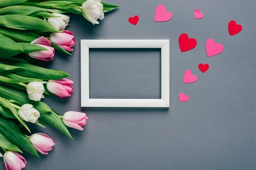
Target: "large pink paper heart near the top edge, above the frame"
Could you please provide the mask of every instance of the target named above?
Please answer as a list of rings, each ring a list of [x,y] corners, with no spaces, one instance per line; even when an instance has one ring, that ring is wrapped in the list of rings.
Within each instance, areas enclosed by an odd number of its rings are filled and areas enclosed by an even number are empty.
[[[166,11],[166,7],[162,4],[157,6],[155,12],[155,22],[165,22],[172,19],[172,13]]]

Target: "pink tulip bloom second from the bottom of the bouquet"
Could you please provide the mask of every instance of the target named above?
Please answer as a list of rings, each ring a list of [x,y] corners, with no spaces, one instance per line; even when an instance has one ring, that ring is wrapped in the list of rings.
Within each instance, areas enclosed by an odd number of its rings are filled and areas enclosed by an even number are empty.
[[[29,141],[35,147],[38,152],[47,155],[48,151],[52,150],[52,146],[55,145],[53,140],[44,133],[35,133],[29,137]]]

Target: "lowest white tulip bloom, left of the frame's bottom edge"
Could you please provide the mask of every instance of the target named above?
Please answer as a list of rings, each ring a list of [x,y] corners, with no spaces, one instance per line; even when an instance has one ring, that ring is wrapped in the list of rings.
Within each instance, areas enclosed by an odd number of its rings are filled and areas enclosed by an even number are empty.
[[[39,111],[33,108],[33,105],[30,104],[22,105],[18,111],[18,115],[21,119],[31,123],[35,123],[40,117]]]

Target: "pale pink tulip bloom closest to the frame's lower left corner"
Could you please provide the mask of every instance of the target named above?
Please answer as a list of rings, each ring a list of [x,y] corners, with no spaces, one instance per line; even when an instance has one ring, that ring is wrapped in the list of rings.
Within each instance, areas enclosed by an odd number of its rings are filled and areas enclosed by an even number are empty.
[[[87,119],[88,117],[85,113],[75,111],[68,111],[62,117],[62,121],[66,126],[77,130],[84,130],[81,126],[86,125]]]

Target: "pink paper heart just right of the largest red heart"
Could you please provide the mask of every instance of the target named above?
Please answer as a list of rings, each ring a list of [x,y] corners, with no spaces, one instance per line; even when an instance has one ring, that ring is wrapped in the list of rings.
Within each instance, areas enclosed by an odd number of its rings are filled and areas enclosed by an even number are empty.
[[[207,40],[205,46],[206,46],[206,53],[207,53],[208,57],[212,57],[212,56],[215,56],[217,54],[220,54],[224,50],[223,45],[222,44],[216,44],[215,41],[212,38]]]

